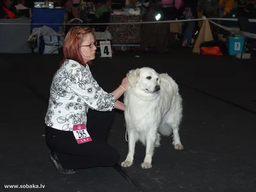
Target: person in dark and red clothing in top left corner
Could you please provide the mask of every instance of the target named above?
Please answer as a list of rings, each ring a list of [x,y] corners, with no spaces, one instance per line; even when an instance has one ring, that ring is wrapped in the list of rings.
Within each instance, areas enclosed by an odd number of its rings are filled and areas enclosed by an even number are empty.
[[[0,12],[0,19],[15,19],[19,17],[17,9],[13,5],[13,0],[1,0],[2,10]]]

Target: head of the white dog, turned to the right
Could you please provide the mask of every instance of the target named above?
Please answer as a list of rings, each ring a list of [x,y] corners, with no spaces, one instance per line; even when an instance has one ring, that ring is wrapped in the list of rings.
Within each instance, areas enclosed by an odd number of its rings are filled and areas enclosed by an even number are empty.
[[[143,67],[130,70],[127,76],[131,87],[142,92],[155,94],[161,88],[159,74],[153,68]]]

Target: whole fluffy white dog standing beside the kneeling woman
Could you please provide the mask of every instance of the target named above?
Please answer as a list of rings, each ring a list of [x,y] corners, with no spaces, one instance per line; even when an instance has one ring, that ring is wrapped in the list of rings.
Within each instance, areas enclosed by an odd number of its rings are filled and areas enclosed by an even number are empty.
[[[173,145],[182,150],[179,124],[182,118],[182,99],[178,85],[168,74],[157,74],[148,67],[131,70],[128,81],[131,84],[124,95],[125,122],[129,137],[129,152],[123,167],[131,166],[137,141],[146,146],[142,168],[152,167],[154,148],[160,146],[161,135],[173,133]]]

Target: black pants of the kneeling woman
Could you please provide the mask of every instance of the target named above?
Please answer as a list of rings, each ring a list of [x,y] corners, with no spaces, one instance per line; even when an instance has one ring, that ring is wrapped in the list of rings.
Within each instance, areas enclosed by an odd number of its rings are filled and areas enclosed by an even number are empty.
[[[113,166],[120,159],[117,150],[107,143],[114,117],[115,109],[104,112],[89,109],[86,129],[92,141],[77,144],[72,131],[46,127],[47,145],[56,152],[61,166],[66,169]]]

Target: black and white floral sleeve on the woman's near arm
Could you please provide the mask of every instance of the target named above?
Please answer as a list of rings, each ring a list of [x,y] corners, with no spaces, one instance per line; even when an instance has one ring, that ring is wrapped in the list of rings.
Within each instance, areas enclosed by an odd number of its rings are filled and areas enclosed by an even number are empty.
[[[97,111],[111,111],[114,108],[113,93],[104,92],[93,78],[90,70],[74,63],[64,70],[69,79],[69,88],[80,97],[90,108]]]

